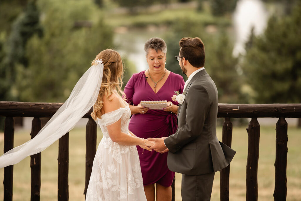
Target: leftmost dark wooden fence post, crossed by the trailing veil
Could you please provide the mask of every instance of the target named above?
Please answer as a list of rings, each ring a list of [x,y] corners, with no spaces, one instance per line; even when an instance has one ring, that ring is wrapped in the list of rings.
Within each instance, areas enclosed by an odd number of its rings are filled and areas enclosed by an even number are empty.
[[[4,121],[4,153],[14,148],[14,118],[6,117]],[[4,168],[4,198],[5,201],[13,200],[13,175],[14,165]]]

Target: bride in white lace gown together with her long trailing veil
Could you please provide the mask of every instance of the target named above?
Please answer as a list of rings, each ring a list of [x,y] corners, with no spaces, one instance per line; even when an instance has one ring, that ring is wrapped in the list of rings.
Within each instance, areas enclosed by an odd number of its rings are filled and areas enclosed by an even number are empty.
[[[39,153],[69,132],[93,106],[103,138],[99,143],[87,189],[90,200],[146,200],[136,145],[153,145],[128,130],[131,115],[122,99],[123,64],[118,52],[100,52],[73,88],[69,98],[33,139],[0,157],[0,168]]]

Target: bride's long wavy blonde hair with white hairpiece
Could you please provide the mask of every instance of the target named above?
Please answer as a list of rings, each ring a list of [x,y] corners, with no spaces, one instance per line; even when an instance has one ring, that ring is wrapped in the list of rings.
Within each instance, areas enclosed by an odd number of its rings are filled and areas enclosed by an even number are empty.
[[[121,90],[124,70],[119,53],[112,49],[103,50],[92,61],[92,65],[95,65],[95,60],[98,59],[101,59],[104,64],[104,72],[97,101],[93,105],[93,112],[91,113],[91,117],[94,120],[101,118],[101,108],[104,105],[103,98],[106,97],[110,100],[109,96],[112,95],[113,90],[116,90],[119,95],[123,96],[123,99],[126,97]]]

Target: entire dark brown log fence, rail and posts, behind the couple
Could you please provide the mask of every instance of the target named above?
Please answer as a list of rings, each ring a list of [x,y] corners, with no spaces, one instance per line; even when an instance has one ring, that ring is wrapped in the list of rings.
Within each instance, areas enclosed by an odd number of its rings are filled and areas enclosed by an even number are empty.
[[[41,130],[42,117],[51,117],[61,107],[61,103],[30,103],[30,102],[0,102],[0,116],[5,116],[4,153],[14,147],[13,117],[34,117],[31,137]],[[93,159],[96,153],[97,125],[91,118],[91,110],[82,118],[88,118],[86,125],[86,195]],[[258,183],[257,169],[259,159],[260,125],[257,118],[279,118],[276,124],[276,158],[275,158],[275,190],[274,200],[286,200],[287,196],[287,122],[285,118],[301,118],[301,104],[219,104],[218,118],[225,118],[222,128],[222,142],[231,147],[231,118],[251,118],[247,127],[248,156],[246,169],[246,200],[257,200]],[[68,165],[69,165],[69,133],[59,140],[58,156],[58,190],[57,200],[68,200]],[[40,200],[41,187],[41,155],[31,156],[31,200]],[[229,200],[230,165],[220,171],[220,200]],[[4,200],[11,201],[13,197],[13,165],[4,168]],[[173,199],[174,199],[173,188]]]

